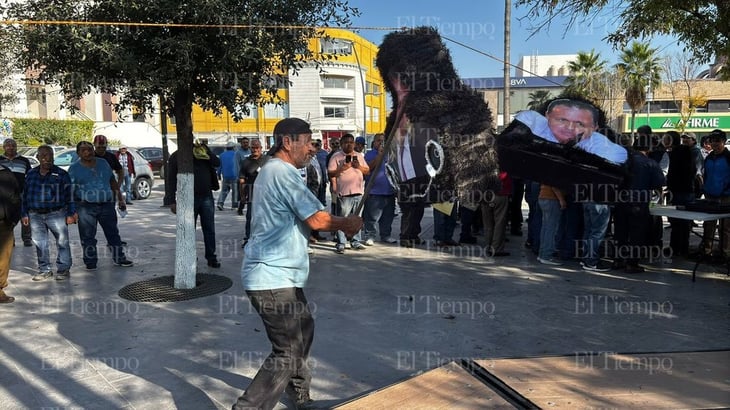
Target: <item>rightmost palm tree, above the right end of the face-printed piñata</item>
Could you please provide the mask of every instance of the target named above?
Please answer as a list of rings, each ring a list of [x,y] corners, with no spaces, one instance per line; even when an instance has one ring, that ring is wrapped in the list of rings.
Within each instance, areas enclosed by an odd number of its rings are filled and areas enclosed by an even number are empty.
[[[646,104],[647,88],[657,88],[661,84],[662,66],[657,50],[649,44],[633,42],[620,56],[616,64],[624,84],[626,102],[631,107],[631,133],[634,133],[636,113]]]

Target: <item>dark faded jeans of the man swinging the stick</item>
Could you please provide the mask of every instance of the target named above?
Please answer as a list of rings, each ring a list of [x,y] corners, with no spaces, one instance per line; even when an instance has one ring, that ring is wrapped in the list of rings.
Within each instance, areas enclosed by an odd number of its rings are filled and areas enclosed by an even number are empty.
[[[264,360],[233,409],[272,409],[287,389],[295,399],[309,397],[307,364],[314,340],[314,319],[301,288],[246,291],[271,342]]]

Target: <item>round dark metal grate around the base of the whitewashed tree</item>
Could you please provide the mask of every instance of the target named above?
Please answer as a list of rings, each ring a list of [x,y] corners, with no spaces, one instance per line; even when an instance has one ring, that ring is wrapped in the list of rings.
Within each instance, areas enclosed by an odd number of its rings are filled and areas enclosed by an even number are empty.
[[[119,290],[119,296],[133,302],[179,302],[215,295],[233,286],[225,276],[199,273],[193,289],[175,289],[174,276],[143,280]]]

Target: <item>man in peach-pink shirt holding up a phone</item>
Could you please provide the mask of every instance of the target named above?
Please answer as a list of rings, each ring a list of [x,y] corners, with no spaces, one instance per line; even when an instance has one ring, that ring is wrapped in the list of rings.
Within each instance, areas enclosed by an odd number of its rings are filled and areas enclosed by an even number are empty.
[[[370,172],[365,156],[355,151],[355,137],[352,134],[345,134],[340,138],[342,151],[336,152],[327,164],[327,174],[334,178],[336,183],[335,194],[339,204],[338,216],[349,216],[357,209],[364,192],[363,177]],[[347,238],[344,232],[337,231],[337,245],[335,252],[345,253],[345,243],[350,240],[350,246],[354,250],[363,250],[365,245],[360,242],[360,231],[357,231],[351,238]]]

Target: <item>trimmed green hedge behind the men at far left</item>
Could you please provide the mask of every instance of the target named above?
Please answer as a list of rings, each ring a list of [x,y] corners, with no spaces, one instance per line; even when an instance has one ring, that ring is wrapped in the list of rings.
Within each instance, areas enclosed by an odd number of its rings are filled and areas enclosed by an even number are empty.
[[[94,130],[93,121],[45,120],[14,118],[13,139],[18,145],[76,146],[79,141],[90,141]]]

